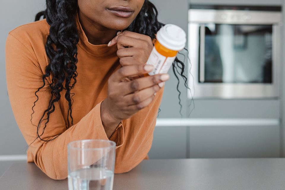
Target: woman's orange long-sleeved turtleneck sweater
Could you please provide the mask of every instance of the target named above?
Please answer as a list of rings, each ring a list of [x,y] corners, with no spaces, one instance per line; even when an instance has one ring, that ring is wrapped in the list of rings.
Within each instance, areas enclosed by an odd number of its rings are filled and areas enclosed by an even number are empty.
[[[102,125],[100,107],[107,97],[107,80],[121,67],[116,55],[117,46],[92,45],[88,42],[77,19],[80,34],[77,63],[77,83],[72,89],[73,126],[67,129],[68,102],[61,96],[50,115],[42,139],[55,140],[42,143],[38,140],[37,123],[50,100],[51,77],[38,93],[39,100],[31,114],[35,92],[43,85],[42,76],[48,64],[45,43],[49,34],[46,20],[20,26],[9,33],[6,41],[6,77],[9,99],[17,124],[29,145],[28,162],[37,166],[50,178],[67,177],[67,144],[82,139],[108,140]],[[63,92],[64,93],[64,92]],[[123,120],[109,140],[117,143],[115,173],[128,172],[139,164],[151,148],[156,116],[163,89],[155,100],[133,117]],[[32,121],[32,123],[31,123]]]

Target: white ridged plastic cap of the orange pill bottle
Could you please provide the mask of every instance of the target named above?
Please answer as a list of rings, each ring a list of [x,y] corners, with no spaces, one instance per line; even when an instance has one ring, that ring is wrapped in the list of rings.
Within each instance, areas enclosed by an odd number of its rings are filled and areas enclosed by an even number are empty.
[[[156,39],[167,49],[180,51],[186,45],[186,33],[179,26],[166,24],[156,34]]]

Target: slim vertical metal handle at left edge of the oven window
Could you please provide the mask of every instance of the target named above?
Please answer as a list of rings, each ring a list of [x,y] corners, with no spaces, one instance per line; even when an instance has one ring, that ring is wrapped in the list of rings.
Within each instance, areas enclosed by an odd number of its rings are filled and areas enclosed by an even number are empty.
[[[200,25],[200,63],[199,63],[199,82],[205,81],[205,24]]]

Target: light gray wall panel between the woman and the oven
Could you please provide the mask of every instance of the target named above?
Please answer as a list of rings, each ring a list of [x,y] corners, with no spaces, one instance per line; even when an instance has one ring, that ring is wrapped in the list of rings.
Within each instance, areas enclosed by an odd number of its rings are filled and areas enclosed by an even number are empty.
[[[176,24],[180,26],[187,33],[187,11],[189,4],[187,0],[179,1],[164,1],[164,0],[151,0],[151,2],[158,9],[159,15],[158,20],[164,24]],[[167,3],[166,3],[167,2]],[[179,2],[179,3],[178,3]],[[181,51],[187,58],[187,52],[185,50]],[[178,55],[178,58],[183,61],[183,56]],[[185,63],[187,61],[185,60]],[[187,69],[187,68],[186,68]],[[159,118],[180,118],[179,113],[180,105],[178,99],[178,91],[176,86],[178,80],[176,79],[172,69],[168,72],[170,75],[170,80],[166,82],[163,94],[162,104],[160,106],[161,112],[159,113]],[[184,81],[182,77],[179,77],[180,85],[178,89],[181,91],[181,105],[182,106],[182,116],[187,117],[189,112],[190,102],[187,99],[187,91],[184,87]],[[193,108],[193,107],[191,107]]]

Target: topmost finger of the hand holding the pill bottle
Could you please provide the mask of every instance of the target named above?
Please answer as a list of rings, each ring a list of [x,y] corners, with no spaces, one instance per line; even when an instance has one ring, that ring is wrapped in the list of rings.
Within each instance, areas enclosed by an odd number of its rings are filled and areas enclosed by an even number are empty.
[[[129,65],[124,66],[120,69],[118,69],[116,72],[111,75],[109,78],[110,80],[114,82],[121,82],[122,79],[125,77],[129,77],[132,75],[141,75],[148,72],[151,72],[153,70],[152,65]]]

